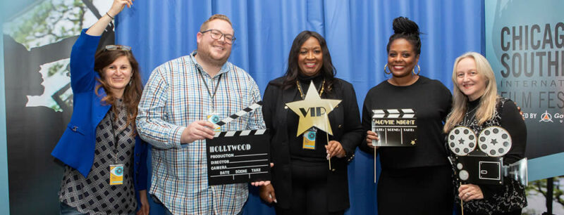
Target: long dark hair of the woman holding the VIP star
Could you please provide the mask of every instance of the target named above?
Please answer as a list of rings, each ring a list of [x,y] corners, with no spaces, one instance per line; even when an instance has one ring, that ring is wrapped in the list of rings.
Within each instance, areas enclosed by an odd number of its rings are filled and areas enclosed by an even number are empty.
[[[325,91],[329,93],[333,87],[337,70],[331,61],[331,54],[329,54],[329,48],[327,48],[327,42],[325,39],[321,37],[321,34],[307,30],[301,32],[295,37],[292,43],[292,48],[290,48],[290,54],[288,55],[288,69],[286,70],[286,74],[284,74],[284,89],[288,89],[288,87],[295,85],[295,81],[298,79],[298,74],[300,73],[300,66],[298,65],[300,48],[302,48],[302,45],[310,37],[317,39],[317,41],[319,41],[319,46],[321,46],[323,65],[321,65],[319,73],[325,78]]]

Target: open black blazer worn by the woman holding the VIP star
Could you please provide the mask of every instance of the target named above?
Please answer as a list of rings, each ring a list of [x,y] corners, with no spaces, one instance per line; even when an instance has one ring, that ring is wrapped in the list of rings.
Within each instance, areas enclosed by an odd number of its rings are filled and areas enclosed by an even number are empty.
[[[292,197],[292,176],[290,175],[290,148],[288,146],[288,129],[286,116],[290,108],[286,103],[294,101],[298,89],[295,86],[283,90],[283,77],[269,82],[264,91],[262,113],[266,128],[270,133],[272,169],[272,185],[276,192],[278,207],[290,208]],[[329,211],[340,211],[350,207],[348,198],[348,162],[355,156],[357,145],[362,141],[362,126],[358,111],[357,97],[353,85],[342,79],[335,79],[331,93],[324,93],[321,98],[342,100],[329,113],[329,122],[333,136],[331,140],[339,141],[346,152],[343,158],[331,158],[331,167],[327,177],[327,204]]]

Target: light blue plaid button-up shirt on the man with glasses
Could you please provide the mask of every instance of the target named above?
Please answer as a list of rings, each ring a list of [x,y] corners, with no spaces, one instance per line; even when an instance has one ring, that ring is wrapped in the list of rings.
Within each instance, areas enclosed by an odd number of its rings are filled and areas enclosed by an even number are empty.
[[[247,184],[209,186],[205,141],[181,146],[180,135],[190,123],[207,120],[212,110],[224,119],[258,102],[259,88],[247,72],[229,62],[210,77],[197,64],[195,53],[157,67],[139,103],[137,130],[153,145],[149,193],[173,214],[236,214],[247,200]],[[217,86],[214,103],[200,73],[212,94]],[[264,127],[262,110],[257,108],[223,125],[221,131]]]

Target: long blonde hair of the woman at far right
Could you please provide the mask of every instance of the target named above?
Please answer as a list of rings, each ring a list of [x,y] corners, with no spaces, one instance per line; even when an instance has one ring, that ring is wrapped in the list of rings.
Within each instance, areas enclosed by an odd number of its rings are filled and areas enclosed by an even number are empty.
[[[486,58],[484,58],[481,54],[476,52],[464,53],[462,56],[456,58],[453,67],[453,110],[450,112],[450,117],[446,119],[443,129],[445,133],[448,133],[448,131],[453,129],[456,124],[460,123],[467,112],[468,97],[460,91],[458,85],[456,84],[456,67],[458,66],[458,63],[460,63],[460,60],[464,58],[474,59],[478,75],[482,75],[486,79],[486,90],[484,91],[484,95],[482,95],[476,114],[474,115],[478,120],[478,124],[482,125],[484,122],[492,119],[496,110],[498,88],[496,85],[496,75],[494,74],[494,70],[491,69],[491,65],[489,65],[488,60],[486,60]]]

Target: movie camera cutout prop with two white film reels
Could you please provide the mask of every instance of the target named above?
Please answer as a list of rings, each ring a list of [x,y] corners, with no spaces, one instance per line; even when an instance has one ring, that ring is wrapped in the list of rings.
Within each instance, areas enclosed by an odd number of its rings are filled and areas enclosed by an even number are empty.
[[[500,185],[505,176],[527,186],[527,158],[503,166],[502,156],[509,152],[512,141],[502,127],[489,126],[476,136],[472,129],[458,126],[448,133],[447,145],[457,155],[449,157],[449,161],[455,164],[460,180]]]

